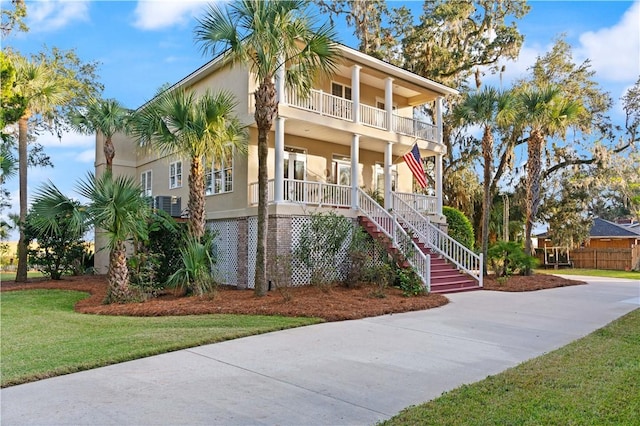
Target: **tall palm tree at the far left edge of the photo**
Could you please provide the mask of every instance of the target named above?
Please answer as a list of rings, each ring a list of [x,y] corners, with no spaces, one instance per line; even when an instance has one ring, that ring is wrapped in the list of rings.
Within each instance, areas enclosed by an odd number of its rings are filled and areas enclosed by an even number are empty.
[[[40,115],[45,119],[51,118],[56,107],[66,101],[68,91],[55,71],[44,60],[34,62],[18,55],[13,55],[11,59],[16,70],[14,92],[21,98],[25,106],[24,113],[18,120],[20,223],[24,223],[27,218],[27,135],[29,134],[29,120],[35,115]],[[27,246],[24,231],[20,227],[16,282],[25,281],[27,281]]]

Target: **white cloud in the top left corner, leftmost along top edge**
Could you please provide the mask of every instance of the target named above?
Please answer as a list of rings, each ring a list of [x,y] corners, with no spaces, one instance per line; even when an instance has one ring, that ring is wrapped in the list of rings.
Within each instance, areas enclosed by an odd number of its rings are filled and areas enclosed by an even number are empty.
[[[74,21],[89,20],[88,0],[45,0],[27,4],[30,31],[55,31]]]

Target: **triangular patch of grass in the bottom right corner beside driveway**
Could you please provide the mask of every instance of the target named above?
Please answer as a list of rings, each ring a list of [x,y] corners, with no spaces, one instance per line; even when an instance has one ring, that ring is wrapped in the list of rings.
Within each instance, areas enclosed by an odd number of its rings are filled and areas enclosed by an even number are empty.
[[[637,425],[640,309],[382,425]]]

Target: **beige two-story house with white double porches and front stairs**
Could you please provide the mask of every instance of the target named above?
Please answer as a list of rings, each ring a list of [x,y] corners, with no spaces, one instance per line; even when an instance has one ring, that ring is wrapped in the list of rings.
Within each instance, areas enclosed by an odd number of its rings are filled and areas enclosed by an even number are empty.
[[[368,221],[372,234],[395,236],[396,240],[411,228],[412,235],[418,235],[416,242],[425,240],[423,244],[435,250],[432,257],[448,258],[481,280],[479,258],[461,251],[438,228],[446,227],[442,215],[442,156],[446,152],[442,144],[442,99],[457,91],[346,46],[340,50],[343,58],[336,73],[316,82],[309,97],[278,90],[278,116],[269,135],[270,256],[291,253],[310,213],[334,210],[353,218],[354,223]],[[282,81],[281,74],[276,87],[282,87],[278,84]],[[218,233],[216,254],[221,279],[240,288],[252,287],[258,203],[255,78],[246,67],[232,67],[218,57],[175,86],[197,92],[231,91],[239,101],[238,117],[249,126],[246,156],[234,155],[225,163],[208,165],[206,213],[208,225]],[[416,118],[414,109],[427,103],[435,106],[435,123]],[[124,135],[116,135],[113,140],[114,173],[140,179],[144,193],[154,198],[156,207],[174,216],[185,214],[188,158],[159,158],[138,152],[134,141]],[[97,174],[105,170],[102,143],[98,136]],[[413,193],[414,178],[403,155],[415,144],[423,158],[433,157],[433,196]],[[366,195],[374,190],[384,196],[384,206]],[[389,211],[403,224],[401,229],[396,229]],[[437,268],[432,264],[434,272],[430,273],[427,250],[416,248],[420,253],[409,250],[409,261],[425,282],[438,281],[431,279],[437,275]],[[98,271],[105,270],[107,261],[104,251],[96,254]],[[305,271],[294,270],[292,280],[294,285],[304,284],[308,276]]]

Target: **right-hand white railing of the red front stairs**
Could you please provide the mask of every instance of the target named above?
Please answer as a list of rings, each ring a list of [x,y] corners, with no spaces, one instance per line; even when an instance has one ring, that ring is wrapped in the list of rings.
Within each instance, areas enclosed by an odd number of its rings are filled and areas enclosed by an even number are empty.
[[[454,264],[457,269],[471,276],[482,287],[482,254],[477,255],[458,241],[451,238],[429,218],[407,204],[402,198],[392,193],[393,212],[400,222],[405,224],[418,240]]]

